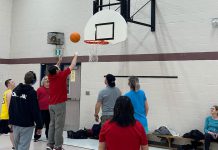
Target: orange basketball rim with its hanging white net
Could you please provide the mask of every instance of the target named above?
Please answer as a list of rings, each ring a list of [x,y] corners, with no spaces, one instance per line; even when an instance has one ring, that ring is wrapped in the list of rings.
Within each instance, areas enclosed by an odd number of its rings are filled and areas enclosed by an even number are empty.
[[[84,40],[86,44],[92,45],[92,49],[89,50],[89,62],[97,62],[98,61],[98,48],[99,46],[109,44],[108,41],[104,40]]]

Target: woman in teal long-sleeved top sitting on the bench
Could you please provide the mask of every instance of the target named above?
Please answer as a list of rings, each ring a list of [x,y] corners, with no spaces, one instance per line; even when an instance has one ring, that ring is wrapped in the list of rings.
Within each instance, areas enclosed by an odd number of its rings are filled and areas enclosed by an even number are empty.
[[[205,150],[210,149],[210,142],[218,142],[218,106],[211,107],[211,116],[205,120]]]

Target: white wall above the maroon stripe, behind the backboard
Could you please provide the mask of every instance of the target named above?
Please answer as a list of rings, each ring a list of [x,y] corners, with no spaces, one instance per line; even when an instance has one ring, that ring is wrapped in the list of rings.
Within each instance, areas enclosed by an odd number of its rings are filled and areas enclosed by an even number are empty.
[[[145,3],[144,0],[132,2],[135,11],[135,6]],[[156,1],[155,32],[128,23],[127,41],[104,47],[99,55],[216,51],[218,34],[217,28],[212,28],[211,18],[218,17],[217,6],[217,0]],[[149,23],[149,14],[150,5],[147,5],[134,19]],[[65,33],[65,56],[71,56],[75,51],[88,55],[90,47],[82,41],[71,43],[69,35],[73,31],[80,32],[83,40],[83,30],[91,16],[92,1],[13,1],[11,57],[54,56],[55,46],[47,44],[47,32],[55,31]]]

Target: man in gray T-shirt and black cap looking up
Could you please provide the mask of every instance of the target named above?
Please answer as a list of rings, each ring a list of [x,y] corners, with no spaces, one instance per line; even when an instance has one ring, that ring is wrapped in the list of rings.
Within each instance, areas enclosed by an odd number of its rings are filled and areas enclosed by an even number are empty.
[[[107,74],[105,76],[106,87],[102,89],[98,94],[98,99],[95,105],[95,121],[99,121],[99,111],[102,108],[101,125],[105,123],[108,119],[113,117],[113,109],[116,99],[121,96],[121,91],[116,87],[115,76],[112,74]]]

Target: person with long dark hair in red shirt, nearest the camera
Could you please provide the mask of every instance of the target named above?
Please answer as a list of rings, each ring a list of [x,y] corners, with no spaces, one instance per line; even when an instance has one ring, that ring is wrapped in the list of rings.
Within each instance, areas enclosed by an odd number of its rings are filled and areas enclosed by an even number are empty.
[[[99,150],[148,150],[145,130],[133,115],[130,99],[127,96],[118,97],[113,118],[102,126]]]

